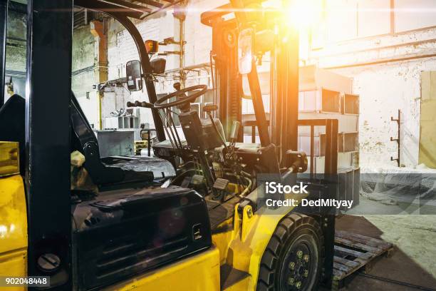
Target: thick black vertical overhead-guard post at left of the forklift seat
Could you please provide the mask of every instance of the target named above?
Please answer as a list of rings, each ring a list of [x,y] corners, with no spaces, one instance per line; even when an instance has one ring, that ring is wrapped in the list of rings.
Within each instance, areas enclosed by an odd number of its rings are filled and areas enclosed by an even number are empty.
[[[26,194],[28,275],[38,257],[60,267],[51,287],[71,290],[70,98],[73,0],[28,1]]]

